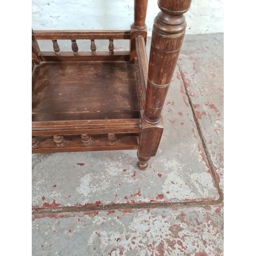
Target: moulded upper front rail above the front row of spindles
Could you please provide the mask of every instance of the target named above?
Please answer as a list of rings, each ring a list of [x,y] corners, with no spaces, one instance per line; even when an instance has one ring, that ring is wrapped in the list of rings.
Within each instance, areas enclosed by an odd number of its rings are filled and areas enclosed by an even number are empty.
[[[140,133],[140,119],[33,122],[33,136]]]

